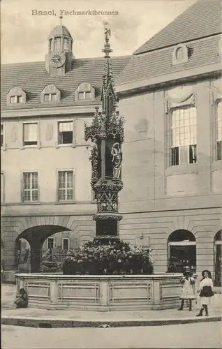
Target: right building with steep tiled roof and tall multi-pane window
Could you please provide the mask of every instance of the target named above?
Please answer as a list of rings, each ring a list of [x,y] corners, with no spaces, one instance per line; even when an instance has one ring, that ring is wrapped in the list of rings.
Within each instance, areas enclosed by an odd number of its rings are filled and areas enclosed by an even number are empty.
[[[149,236],[158,272],[221,285],[221,1],[198,1],[117,79],[126,115],[121,234]],[[183,30],[182,30],[183,28]],[[192,28],[192,30],[190,30]]]

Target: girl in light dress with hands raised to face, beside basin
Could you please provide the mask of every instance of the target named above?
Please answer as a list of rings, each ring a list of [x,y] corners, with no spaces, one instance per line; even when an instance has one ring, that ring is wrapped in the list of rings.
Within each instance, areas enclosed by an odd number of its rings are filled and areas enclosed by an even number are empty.
[[[194,293],[194,284],[195,280],[192,278],[193,273],[190,269],[186,269],[184,272],[184,277],[180,280],[180,283],[182,284],[182,294],[179,297],[182,302],[181,306],[178,310],[184,309],[184,300],[189,301],[189,311],[192,310],[192,300],[195,299],[195,293]]]

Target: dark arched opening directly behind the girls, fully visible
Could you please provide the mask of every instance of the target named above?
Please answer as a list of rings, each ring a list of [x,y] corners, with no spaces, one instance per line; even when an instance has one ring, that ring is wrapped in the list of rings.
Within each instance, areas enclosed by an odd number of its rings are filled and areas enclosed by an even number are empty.
[[[175,230],[168,238],[168,272],[196,271],[196,241],[188,230]]]

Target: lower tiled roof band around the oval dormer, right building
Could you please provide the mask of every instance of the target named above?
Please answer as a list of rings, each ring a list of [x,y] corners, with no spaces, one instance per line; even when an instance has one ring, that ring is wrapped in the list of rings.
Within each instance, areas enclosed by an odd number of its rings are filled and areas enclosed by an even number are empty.
[[[124,68],[121,75],[119,75],[116,84],[119,85],[145,80],[151,77],[176,73],[181,70],[207,66],[208,64],[220,64],[220,38],[221,36],[217,35],[187,43],[186,45],[191,52],[191,57],[186,63],[182,64],[172,65],[173,47],[167,47],[145,54],[133,55],[126,65],[126,68]]]

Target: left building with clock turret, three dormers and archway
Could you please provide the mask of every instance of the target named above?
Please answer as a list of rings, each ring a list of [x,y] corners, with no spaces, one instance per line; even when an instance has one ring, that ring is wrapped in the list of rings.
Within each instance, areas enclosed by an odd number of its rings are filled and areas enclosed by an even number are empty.
[[[44,255],[95,236],[84,121],[100,105],[104,59],[74,59],[73,38],[62,25],[48,43],[45,61],[1,70],[1,242],[8,279],[29,258],[37,271],[40,248]],[[128,59],[112,59],[114,77]]]

